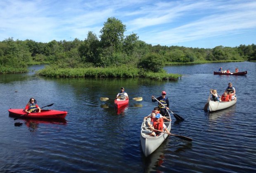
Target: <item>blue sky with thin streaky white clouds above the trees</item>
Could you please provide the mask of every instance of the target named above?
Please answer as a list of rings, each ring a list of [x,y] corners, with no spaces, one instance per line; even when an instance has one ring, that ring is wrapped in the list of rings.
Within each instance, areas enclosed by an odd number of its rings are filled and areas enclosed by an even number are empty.
[[[0,41],[84,40],[109,17],[152,45],[256,44],[256,0],[1,0]]]

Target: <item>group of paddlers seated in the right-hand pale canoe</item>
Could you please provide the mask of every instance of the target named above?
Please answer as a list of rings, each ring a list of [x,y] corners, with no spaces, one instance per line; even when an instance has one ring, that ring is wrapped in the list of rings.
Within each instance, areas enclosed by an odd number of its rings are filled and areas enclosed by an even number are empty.
[[[228,87],[225,90],[225,92],[222,94],[222,96],[219,96],[217,93],[216,89],[211,89],[211,94],[212,94],[212,100],[213,101],[218,101],[218,102],[223,102],[223,101],[232,101],[237,99],[235,97],[235,88],[232,86],[232,83],[228,83]]]

